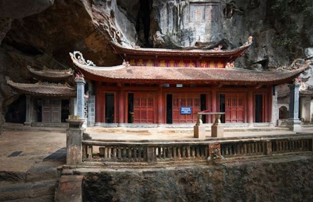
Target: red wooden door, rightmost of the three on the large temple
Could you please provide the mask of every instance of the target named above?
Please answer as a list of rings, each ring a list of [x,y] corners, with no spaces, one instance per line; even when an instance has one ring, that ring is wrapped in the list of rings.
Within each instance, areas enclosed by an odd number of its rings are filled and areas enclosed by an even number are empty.
[[[225,94],[225,122],[243,123],[244,119],[244,94],[226,93]]]

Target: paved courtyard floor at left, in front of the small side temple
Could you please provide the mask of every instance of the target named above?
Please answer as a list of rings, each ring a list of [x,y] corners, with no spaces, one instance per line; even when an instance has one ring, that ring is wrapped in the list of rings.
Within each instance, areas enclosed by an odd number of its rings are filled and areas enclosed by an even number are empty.
[[[40,131],[2,131],[0,135],[0,172],[26,173],[33,167],[57,167],[65,162],[43,159],[66,147],[66,133]],[[11,156],[22,151],[19,155]]]

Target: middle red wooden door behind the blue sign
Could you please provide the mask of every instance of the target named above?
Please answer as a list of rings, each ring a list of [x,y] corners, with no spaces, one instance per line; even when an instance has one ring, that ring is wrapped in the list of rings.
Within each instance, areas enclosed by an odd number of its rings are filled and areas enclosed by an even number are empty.
[[[200,112],[200,94],[173,94],[173,123],[195,123]],[[191,107],[191,114],[180,114],[181,107]]]

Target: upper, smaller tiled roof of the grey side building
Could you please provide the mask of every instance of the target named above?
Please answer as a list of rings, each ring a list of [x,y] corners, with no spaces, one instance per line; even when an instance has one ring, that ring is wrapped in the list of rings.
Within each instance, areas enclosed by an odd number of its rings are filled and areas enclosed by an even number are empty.
[[[74,71],[72,69],[68,70],[53,70],[53,69],[42,69],[36,70],[30,66],[27,66],[27,69],[34,75],[40,78],[46,78],[49,80],[65,80],[73,75]]]

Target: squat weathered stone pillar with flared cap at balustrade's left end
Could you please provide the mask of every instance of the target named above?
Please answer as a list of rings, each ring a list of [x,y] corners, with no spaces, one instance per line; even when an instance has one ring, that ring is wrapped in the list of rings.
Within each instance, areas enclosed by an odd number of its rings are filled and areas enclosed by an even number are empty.
[[[82,163],[82,140],[85,119],[66,119],[69,128],[66,133],[66,164],[79,165]]]

